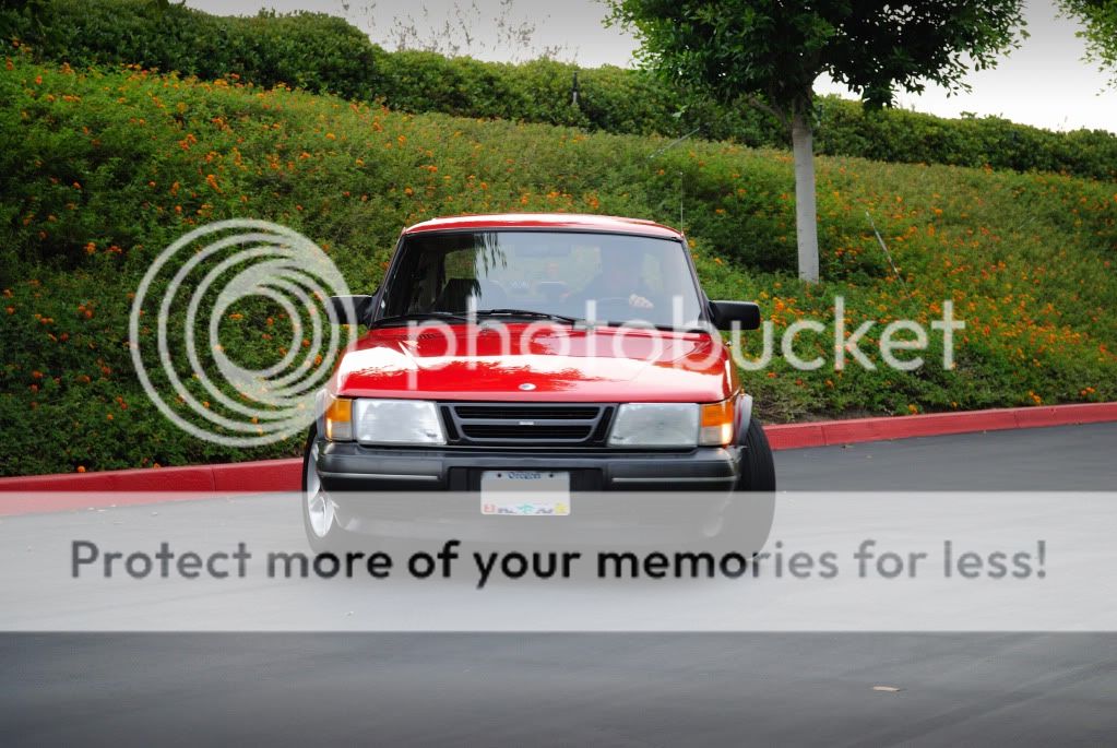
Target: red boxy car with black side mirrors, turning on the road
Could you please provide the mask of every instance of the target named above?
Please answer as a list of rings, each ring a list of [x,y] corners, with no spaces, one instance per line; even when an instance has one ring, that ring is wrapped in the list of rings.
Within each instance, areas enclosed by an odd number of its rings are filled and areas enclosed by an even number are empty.
[[[485,537],[500,515],[590,521],[600,507],[579,495],[775,489],[717,332],[758,327],[760,309],[708,300],[675,229],[436,219],[402,232],[374,294],[331,305],[369,329],[341,357],[306,442],[315,549],[450,520]],[[412,501],[416,490],[443,500]]]

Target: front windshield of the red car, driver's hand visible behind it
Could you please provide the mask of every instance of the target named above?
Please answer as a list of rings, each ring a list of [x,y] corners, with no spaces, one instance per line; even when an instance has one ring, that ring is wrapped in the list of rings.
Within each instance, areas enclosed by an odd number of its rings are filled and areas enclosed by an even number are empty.
[[[381,319],[554,317],[686,327],[698,288],[682,243],[573,231],[477,231],[407,237]]]

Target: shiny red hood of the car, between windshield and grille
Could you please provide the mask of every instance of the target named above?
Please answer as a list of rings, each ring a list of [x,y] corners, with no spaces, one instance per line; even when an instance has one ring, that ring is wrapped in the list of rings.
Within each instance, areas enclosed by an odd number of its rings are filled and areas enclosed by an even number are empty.
[[[331,391],[353,397],[716,402],[736,386],[707,333],[558,325],[374,329],[342,356]]]

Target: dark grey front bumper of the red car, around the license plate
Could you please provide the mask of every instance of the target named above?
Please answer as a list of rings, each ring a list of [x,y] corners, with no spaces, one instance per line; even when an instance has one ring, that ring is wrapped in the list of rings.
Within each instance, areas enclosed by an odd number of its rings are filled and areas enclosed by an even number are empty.
[[[375,449],[319,442],[317,471],[346,530],[384,537],[479,541],[665,543],[720,527],[741,450]],[[480,515],[486,470],[570,473],[571,516],[519,521]]]

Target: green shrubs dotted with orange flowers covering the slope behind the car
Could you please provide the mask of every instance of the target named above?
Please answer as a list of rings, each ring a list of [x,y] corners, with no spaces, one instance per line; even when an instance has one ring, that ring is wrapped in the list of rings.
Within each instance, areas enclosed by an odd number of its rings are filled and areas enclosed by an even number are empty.
[[[850,327],[926,323],[945,299],[966,320],[954,371],[798,372],[776,357],[743,375],[763,418],[1117,399],[1113,183],[819,159],[827,281],[809,287],[792,275],[784,152],[701,141],[659,152],[669,141],[401,114],[227,78],[76,71],[15,47],[3,57],[0,473],[297,453],[297,440],[256,450],[194,440],[155,411],[132,371],[131,295],[152,258],[199,224],[239,217],[313,238],[357,293],[375,287],[400,229],[433,215],[580,211],[678,223],[681,198],[707,291],[758,300],[777,330],[832,317],[836,295]],[[222,342],[262,366],[284,355],[288,324],[237,309]],[[748,352],[760,344],[751,337]],[[812,344],[832,341],[804,338]]]

